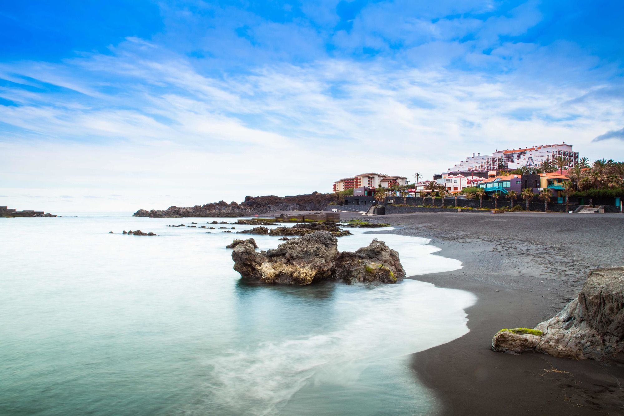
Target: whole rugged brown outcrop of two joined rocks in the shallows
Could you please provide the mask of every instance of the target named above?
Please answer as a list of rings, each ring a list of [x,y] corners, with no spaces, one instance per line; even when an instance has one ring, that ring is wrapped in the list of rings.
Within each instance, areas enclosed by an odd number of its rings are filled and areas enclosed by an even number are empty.
[[[266,253],[237,241],[232,252],[234,270],[244,279],[263,284],[308,285],[321,280],[396,283],[405,276],[399,254],[378,239],[356,252],[343,253],[338,252],[338,240],[328,231],[287,240]]]

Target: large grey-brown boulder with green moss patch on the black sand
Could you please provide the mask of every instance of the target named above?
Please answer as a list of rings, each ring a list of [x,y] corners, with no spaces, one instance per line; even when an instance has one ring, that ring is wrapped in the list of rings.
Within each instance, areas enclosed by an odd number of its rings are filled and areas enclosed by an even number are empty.
[[[561,312],[534,330],[500,330],[492,350],[624,362],[624,267],[592,270]]]

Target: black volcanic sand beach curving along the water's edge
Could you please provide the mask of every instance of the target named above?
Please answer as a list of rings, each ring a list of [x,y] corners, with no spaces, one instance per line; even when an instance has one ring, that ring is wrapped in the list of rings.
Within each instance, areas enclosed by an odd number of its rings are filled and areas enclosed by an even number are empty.
[[[416,377],[437,393],[440,414],[624,412],[624,366],[490,350],[498,330],[534,327],[557,314],[590,269],[623,262],[624,216],[579,215],[484,213],[470,215],[469,222],[456,213],[367,218],[389,222],[396,227],[391,233],[431,239],[441,249],[436,254],[462,261],[462,269],[409,279],[477,296],[466,310],[468,334],[411,357]]]

